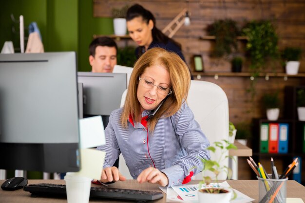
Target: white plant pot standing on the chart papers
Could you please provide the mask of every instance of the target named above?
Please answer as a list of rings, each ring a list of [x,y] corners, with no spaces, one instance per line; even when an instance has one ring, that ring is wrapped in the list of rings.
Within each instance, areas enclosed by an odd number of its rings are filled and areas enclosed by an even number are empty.
[[[218,189],[218,188],[217,188]],[[232,197],[232,190],[224,189],[226,193],[208,193],[198,190],[198,203],[229,203]]]

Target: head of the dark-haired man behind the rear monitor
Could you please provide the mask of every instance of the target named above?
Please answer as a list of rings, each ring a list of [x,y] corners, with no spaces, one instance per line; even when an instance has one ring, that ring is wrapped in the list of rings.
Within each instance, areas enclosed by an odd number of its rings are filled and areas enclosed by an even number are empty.
[[[89,63],[93,73],[112,73],[116,65],[117,45],[110,37],[97,37],[89,45]]]

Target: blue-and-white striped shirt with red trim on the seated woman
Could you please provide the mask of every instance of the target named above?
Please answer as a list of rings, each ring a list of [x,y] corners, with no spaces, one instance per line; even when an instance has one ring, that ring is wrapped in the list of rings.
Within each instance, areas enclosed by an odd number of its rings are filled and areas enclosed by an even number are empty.
[[[106,144],[97,147],[106,151],[104,167],[113,166],[122,153],[133,179],[148,167],[155,167],[165,173],[169,185],[180,185],[183,180],[203,170],[199,158],[210,159],[210,142],[194,120],[194,115],[186,103],[170,117],[162,117],[151,133],[140,122],[133,125],[130,119],[128,128],[120,124],[122,108],[114,110],[105,129]],[[150,111],[143,111],[142,117]]]

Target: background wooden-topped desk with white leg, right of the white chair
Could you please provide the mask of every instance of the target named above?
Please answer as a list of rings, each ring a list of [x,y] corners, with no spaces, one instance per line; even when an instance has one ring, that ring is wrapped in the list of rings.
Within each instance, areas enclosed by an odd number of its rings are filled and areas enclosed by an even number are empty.
[[[237,149],[230,149],[229,156],[233,156],[235,161],[229,158],[229,168],[232,169],[232,177],[231,179],[237,180],[238,179],[238,157],[239,156],[252,156],[252,149],[248,148],[245,145],[235,141],[234,145]]]

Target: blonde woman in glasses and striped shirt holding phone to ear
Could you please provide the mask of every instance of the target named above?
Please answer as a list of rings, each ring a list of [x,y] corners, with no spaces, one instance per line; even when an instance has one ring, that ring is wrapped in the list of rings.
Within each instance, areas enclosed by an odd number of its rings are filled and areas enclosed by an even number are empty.
[[[175,53],[152,48],[138,59],[125,106],[111,113],[98,147],[107,154],[101,182],[126,179],[113,166],[120,153],[139,183],[180,185],[203,169],[199,157],[210,159],[210,143],[186,103],[190,81]]]

